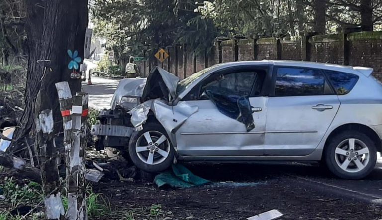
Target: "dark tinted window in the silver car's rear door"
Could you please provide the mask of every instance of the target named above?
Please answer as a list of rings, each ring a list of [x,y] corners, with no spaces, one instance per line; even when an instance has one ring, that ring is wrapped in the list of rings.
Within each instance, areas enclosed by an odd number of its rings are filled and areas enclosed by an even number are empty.
[[[278,68],[275,96],[333,94],[321,70],[306,68]]]

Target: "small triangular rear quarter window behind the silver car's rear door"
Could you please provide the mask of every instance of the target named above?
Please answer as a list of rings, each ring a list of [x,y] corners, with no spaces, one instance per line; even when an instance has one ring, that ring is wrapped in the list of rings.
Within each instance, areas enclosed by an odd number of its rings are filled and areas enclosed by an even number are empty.
[[[331,70],[325,70],[325,73],[336,90],[337,95],[345,95],[349,93],[358,81],[358,75],[351,73]]]

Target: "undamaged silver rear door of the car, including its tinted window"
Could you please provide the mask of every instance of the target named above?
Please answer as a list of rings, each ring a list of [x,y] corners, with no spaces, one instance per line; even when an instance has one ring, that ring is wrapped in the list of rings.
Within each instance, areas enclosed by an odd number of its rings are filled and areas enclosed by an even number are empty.
[[[318,146],[340,106],[322,70],[275,67],[268,100],[265,155],[308,155]]]

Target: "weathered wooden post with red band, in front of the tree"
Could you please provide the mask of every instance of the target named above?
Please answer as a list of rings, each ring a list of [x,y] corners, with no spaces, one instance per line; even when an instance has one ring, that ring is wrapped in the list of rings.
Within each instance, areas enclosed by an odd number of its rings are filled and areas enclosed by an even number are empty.
[[[56,83],[64,120],[69,220],[86,220],[85,147],[88,95],[72,97],[68,82]]]

